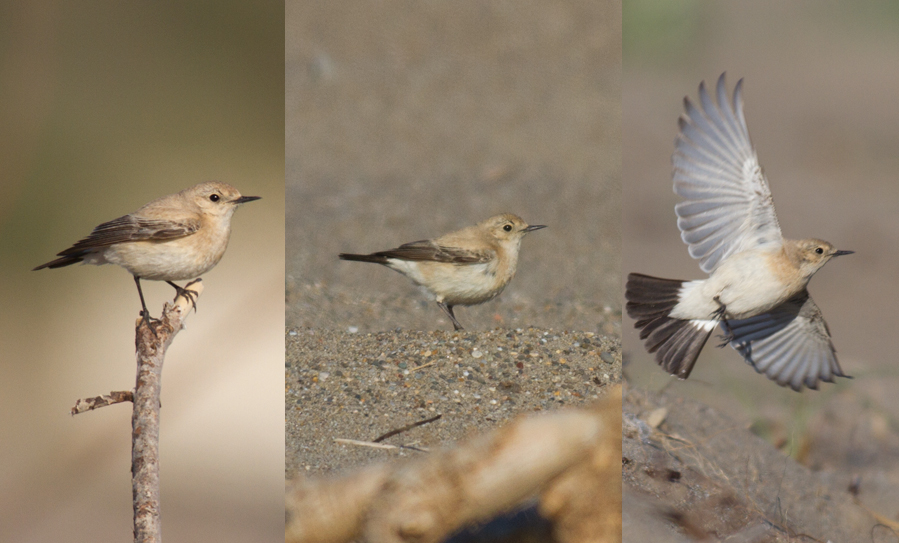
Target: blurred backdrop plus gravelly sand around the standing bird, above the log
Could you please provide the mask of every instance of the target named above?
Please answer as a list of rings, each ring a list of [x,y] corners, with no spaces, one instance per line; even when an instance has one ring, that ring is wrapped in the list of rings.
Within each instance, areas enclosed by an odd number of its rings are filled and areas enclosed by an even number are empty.
[[[432,447],[618,381],[620,30],[615,1],[288,4],[289,477],[391,456],[334,438],[443,413],[399,438]],[[337,258],[505,211],[548,228],[462,333]]]

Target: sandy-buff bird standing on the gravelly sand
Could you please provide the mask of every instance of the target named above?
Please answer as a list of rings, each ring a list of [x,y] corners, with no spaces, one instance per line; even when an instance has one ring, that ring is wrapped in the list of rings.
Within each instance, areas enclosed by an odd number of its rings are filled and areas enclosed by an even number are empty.
[[[453,321],[453,306],[476,305],[499,296],[515,275],[521,238],[546,228],[504,213],[436,239],[415,241],[368,255],[341,253],[341,260],[383,264],[427,291]]]

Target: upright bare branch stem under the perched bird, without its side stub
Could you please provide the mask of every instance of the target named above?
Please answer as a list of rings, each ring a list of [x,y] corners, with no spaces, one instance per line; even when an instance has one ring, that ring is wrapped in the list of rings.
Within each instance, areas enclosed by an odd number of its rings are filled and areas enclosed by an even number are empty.
[[[131,490],[134,500],[135,543],[159,543],[162,540],[159,519],[159,408],[162,363],[165,351],[183,327],[184,319],[203,291],[199,279],[186,287],[193,300],[175,298],[165,304],[155,330],[138,320],[136,331],[137,384],[131,414]]]

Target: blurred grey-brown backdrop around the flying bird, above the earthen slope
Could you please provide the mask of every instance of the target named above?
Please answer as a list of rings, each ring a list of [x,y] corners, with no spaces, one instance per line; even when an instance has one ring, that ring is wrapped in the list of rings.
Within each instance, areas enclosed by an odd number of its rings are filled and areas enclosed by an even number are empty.
[[[797,394],[756,374],[732,349],[716,349],[713,338],[690,379],[677,381],[644,351],[627,317],[625,375],[752,425],[803,464],[832,470],[841,488],[859,475],[863,502],[895,518],[896,3],[628,0],[623,21],[622,279],[705,276],[677,230],[670,157],[683,97],[695,98],[701,80],[714,85],[723,71],[729,89],[745,78],[749,132],[785,236],[856,251],[809,286],[854,380]]]

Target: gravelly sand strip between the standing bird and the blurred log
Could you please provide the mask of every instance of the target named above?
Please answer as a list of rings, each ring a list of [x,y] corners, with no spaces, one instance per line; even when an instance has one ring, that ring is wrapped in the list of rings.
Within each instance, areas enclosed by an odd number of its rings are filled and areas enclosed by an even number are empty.
[[[433,448],[523,412],[595,401],[620,382],[617,340],[592,332],[287,333],[288,478],[407,456],[334,442],[371,441],[441,418],[386,443]]]

